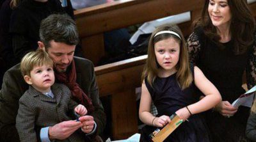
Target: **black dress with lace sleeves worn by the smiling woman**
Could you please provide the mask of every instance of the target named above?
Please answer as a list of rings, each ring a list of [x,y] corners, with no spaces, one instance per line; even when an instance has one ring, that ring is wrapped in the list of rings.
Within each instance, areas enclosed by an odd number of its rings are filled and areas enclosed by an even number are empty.
[[[255,85],[256,47],[250,47],[244,54],[235,55],[234,42],[223,43],[220,48],[197,28],[188,38],[190,61],[198,66],[205,76],[218,88],[222,100],[232,104],[244,93],[243,72],[246,70],[248,88]],[[212,141],[242,141],[246,122],[250,114],[249,107],[239,107],[234,116],[226,118],[218,112],[205,113]]]

